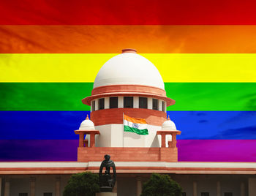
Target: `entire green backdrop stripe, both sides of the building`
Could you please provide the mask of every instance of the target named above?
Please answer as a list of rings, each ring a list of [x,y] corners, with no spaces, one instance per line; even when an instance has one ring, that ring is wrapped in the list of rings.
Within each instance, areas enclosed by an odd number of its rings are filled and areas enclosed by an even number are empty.
[[[90,110],[93,83],[0,83],[0,110]],[[256,110],[256,83],[165,83],[167,110]]]

